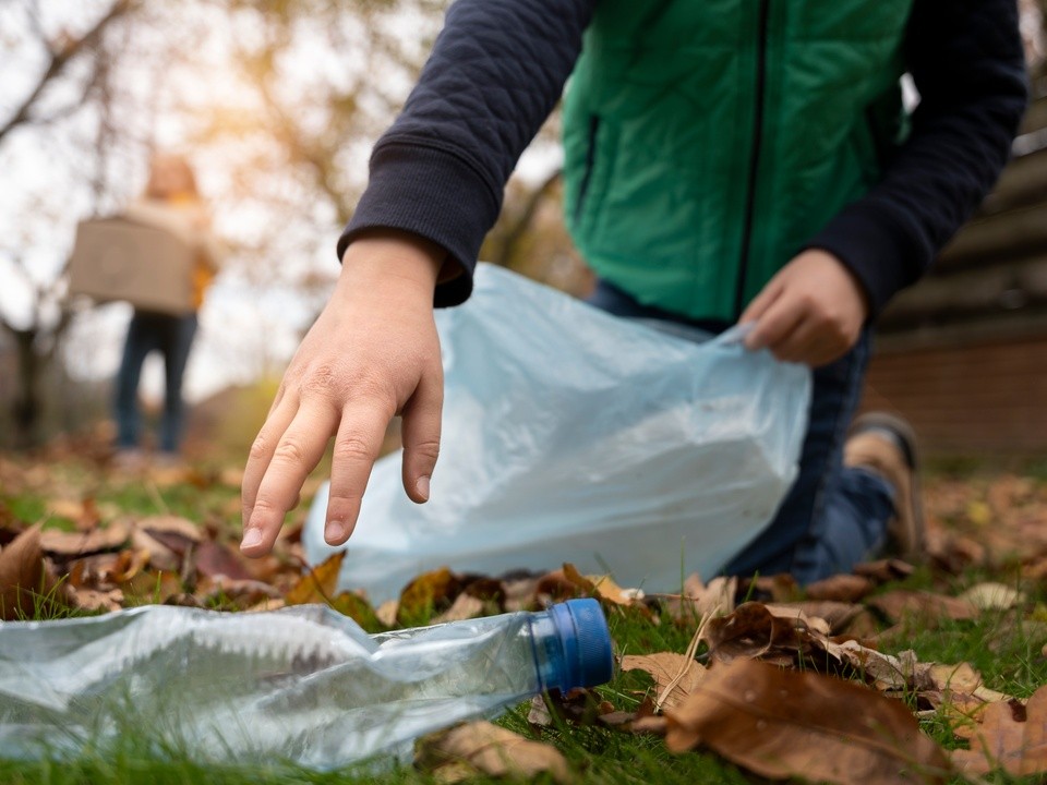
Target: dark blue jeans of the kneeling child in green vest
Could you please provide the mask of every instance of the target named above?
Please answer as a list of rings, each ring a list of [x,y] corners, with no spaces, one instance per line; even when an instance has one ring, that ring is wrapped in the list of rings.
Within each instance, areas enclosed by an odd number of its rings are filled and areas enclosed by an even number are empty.
[[[598,282],[589,303],[616,316],[712,334],[731,326],[641,305],[606,281]],[[893,488],[878,474],[843,466],[843,443],[862,395],[870,343],[867,328],[844,357],[815,369],[799,474],[768,528],[724,567],[726,575],[790,572],[799,583],[809,583],[850,572],[882,547],[894,515]]]

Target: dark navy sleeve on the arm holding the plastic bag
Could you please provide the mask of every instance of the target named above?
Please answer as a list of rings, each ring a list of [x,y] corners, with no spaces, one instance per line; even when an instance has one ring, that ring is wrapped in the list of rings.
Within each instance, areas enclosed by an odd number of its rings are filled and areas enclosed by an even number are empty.
[[[915,0],[905,57],[920,95],[908,140],[880,183],[808,243],[847,265],[874,314],[988,193],[1026,102],[1015,0]]]

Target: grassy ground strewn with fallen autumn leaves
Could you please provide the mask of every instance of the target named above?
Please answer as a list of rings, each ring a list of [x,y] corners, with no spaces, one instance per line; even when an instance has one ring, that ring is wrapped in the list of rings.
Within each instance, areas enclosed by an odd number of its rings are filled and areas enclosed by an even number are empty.
[[[380,607],[336,591],[337,561],[305,568],[301,511],[273,556],[241,558],[239,483],[231,467],[120,474],[89,442],[0,456],[0,617],[145,603],[230,612],[325,603],[383,631],[588,595],[607,615],[615,679],[537,698],[497,724],[426,738],[413,766],[380,775],[203,769],[155,760],[129,739],[116,757],[0,760],[0,781],[1047,776],[1047,478],[1036,467],[932,471],[925,478],[930,553],[922,565],[883,560],[804,590],[784,576],[693,576],[672,595],[645,595],[570,565],[540,576],[443,569]]]

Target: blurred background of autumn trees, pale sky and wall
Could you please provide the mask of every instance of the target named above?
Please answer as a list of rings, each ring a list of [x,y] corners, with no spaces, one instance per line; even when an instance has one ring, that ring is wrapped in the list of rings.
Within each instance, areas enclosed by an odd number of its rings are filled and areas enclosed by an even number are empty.
[[[338,273],[366,161],[447,0],[0,0],[0,448],[108,439],[131,306],[69,293],[76,227],[192,164],[224,249],[185,394],[190,458],[245,456]],[[1047,455],[1047,0],[1022,0],[1033,99],[1014,160],[934,274],[884,314],[866,406],[940,455]],[[915,99],[915,98],[914,98]],[[482,258],[581,294],[558,121],[521,159]],[[163,364],[146,363],[155,416]]]

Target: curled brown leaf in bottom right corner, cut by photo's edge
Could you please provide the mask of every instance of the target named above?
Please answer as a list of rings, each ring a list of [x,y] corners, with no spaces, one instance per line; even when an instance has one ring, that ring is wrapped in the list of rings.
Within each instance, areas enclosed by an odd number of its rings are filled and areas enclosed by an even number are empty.
[[[970,750],[956,750],[952,761],[965,774],[1002,769],[1014,776],[1047,772],[1047,687],[1028,703],[990,703]]]

